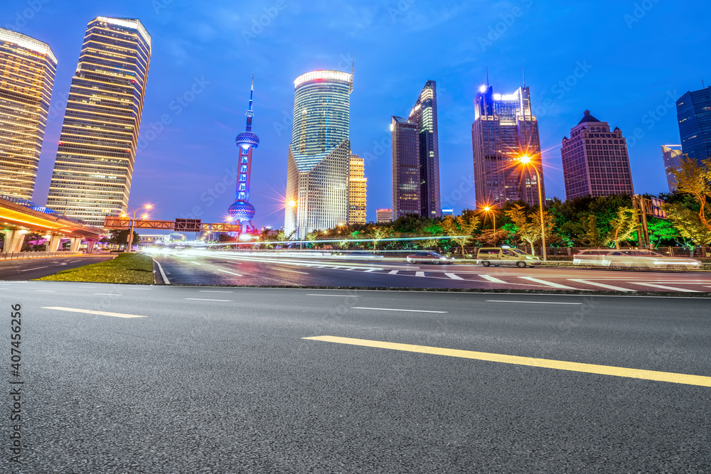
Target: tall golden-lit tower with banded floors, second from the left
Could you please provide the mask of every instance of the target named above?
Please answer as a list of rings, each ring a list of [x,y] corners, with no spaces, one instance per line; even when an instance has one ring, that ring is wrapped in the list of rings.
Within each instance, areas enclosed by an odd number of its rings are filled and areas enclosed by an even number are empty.
[[[127,209],[151,60],[139,20],[90,21],[72,79],[47,205],[93,225]]]

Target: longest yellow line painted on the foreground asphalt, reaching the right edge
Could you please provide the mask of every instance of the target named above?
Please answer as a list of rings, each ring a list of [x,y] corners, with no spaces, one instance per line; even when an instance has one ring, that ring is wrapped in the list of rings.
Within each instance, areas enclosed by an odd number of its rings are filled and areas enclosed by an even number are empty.
[[[580,362],[567,362],[565,360],[537,359],[535,357],[520,357],[518,355],[492,354],[490,352],[474,352],[472,350],[433,348],[426,345],[412,345],[400,343],[387,343],[380,340],[339,338],[332,335],[321,335],[312,338],[326,343],[339,343],[360,345],[367,348],[380,348],[392,350],[405,350],[407,352],[420,352],[422,354],[448,355],[449,357],[464,357],[465,359],[487,360],[489,362],[503,362],[505,364],[530,365],[531,367],[545,367],[547,369],[570,370],[572,372],[587,372],[589,374],[614,375],[616,377],[629,377],[633,379],[656,380],[673,384],[700,385],[711,387],[711,377],[702,375],[677,374],[674,372],[657,372],[656,370],[628,369],[611,365],[583,364]]]

